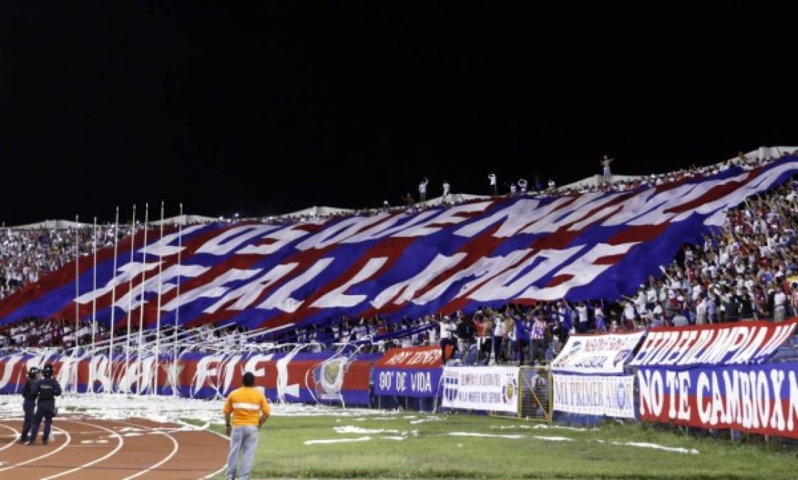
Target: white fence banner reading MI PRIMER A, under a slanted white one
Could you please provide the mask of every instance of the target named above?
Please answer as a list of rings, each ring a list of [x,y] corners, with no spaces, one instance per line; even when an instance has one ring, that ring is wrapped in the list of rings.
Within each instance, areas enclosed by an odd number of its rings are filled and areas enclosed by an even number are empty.
[[[553,377],[556,411],[634,419],[634,376]]]

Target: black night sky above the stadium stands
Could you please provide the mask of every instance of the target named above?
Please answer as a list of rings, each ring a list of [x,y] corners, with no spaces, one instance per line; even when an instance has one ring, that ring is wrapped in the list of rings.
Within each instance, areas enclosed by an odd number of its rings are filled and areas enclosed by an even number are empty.
[[[487,193],[798,143],[791,12],[210,3],[2,3],[0,220],[377,206],[425,175]]]

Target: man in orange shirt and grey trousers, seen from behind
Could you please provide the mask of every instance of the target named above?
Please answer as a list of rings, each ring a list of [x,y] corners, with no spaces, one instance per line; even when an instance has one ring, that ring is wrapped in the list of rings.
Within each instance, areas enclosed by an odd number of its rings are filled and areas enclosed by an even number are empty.
[[[242,380],[244,386],[232,391],[224,403],[225,431],[230,437],[227,480],[249,480],[252,459],[258,449],[260,427],[271,413],[266,397],[255,389],[255,375],[251,372],[244,373]],[[239,458],[241,467],[237,468]],[[236,470],[238,477],[235,475]]]

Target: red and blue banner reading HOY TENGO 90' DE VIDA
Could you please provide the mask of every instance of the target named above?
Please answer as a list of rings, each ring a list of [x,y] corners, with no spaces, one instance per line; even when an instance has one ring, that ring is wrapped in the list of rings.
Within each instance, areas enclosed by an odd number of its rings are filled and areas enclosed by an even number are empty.
[[[448,347],[451,349],[451,347]],[[433,397],[439,393],[440,347],[391,348],[371,370],[376,395]]]

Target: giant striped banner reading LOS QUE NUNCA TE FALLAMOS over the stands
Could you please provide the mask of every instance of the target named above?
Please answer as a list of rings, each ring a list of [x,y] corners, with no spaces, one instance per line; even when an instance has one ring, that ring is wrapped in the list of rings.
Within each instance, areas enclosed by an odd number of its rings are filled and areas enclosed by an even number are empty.
[[[219,222],[162,238],[139,230],[120,242],[116,259],[113,249],[98,254],[96,277],[93,260],[81,258],[77,280],[71,264],[0,302],[0,325],[93,318],[95,302],[105,324],[113,314],[118,325],[179,317],[252,329],[618,298],[685,242],[721,226],[725,209],[796,171],[798,157],[788,156],[635,191],[476,200],[323,223]]]

